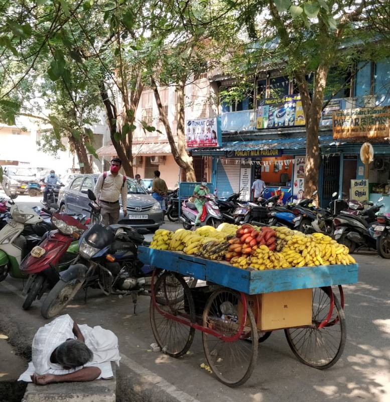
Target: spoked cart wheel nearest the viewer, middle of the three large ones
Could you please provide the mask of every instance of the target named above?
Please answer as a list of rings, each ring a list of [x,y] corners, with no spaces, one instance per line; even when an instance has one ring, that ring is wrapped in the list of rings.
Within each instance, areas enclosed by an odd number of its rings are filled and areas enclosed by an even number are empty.
[[[236,335],[240,328],[237,311],[240,301],[240,294],[230,289],[212,293],[204,308],[203,326],[223,336]],[[202,332],[207,362],[219,381],[238,386],[250,377],[257,360],[257,337],[256,322],[250,309],[246,310],[246,323],[240,337],[233,342]],[[256,342],[247,342],[248,338]]]

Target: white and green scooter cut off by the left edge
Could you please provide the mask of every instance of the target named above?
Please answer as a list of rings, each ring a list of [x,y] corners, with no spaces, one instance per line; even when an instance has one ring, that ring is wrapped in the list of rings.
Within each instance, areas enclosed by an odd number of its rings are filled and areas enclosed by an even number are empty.
[[[8,196],[10,194],[5,189]],[[0,281],[4,280],[8,274],[13,278],[26,278],[24,272],[20,270],[20,264],[27,251],[27,239],[22,235],[25,225],[37,225],[43,219],[29,207],[13,205],[11,207],[12,219],[0,230]],[[33,236],[34,237],[34,236]],[[35,236],[31,243],[38,244],[42,239]]]

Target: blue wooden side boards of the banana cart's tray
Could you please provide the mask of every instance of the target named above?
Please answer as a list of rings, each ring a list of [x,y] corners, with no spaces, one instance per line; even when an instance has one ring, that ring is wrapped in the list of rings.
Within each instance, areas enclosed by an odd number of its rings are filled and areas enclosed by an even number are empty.
[[[352,284],[357,282],[358,276],[357,264],[258,271],[237,268],[225,261],[211,261],[180,251],[156,250],[144,246],[138,248],[138,258],[144,264],[207,280],[246,294]]]

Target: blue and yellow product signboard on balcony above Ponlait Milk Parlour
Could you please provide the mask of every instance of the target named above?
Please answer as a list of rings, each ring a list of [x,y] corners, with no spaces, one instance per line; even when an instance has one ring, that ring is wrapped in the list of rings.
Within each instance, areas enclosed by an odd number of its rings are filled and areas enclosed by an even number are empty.
[[[257,129],[305,125],[300,95],[258,101]]]

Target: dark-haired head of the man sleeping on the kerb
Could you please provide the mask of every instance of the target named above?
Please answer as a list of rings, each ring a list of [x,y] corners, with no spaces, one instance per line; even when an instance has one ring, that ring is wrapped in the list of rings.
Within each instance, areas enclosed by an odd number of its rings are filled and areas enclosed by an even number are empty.
[[[85,343],[70,339],[56,349],[56,361],[65,370],[80,367],[89,362],[93,353],[88,349]]]

